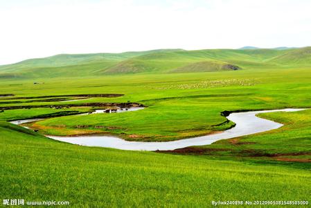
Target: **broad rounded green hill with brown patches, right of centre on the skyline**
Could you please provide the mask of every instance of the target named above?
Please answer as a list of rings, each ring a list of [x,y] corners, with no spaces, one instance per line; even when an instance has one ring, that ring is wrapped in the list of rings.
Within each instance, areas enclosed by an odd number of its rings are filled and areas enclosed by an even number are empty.
[[[222,65],[237,65],[245,68],[252,63],[260,66],[263,62],[285,53],[280,50],[256,49],[233,50],[211,49],[199,51],[165,51],[139,55],[123,60],[104,73],[152,73],[152,72],[202,72],[226,69]],[[241,62],[247,62],[240,66]]]

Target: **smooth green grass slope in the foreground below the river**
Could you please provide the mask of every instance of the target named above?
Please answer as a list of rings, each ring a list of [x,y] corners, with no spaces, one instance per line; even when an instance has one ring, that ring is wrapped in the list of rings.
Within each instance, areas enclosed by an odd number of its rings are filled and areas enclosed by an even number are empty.
[[[68,200],[91,207],[310,199],[310,171],[75,146],[4,121],[0,131],[0,198]]]

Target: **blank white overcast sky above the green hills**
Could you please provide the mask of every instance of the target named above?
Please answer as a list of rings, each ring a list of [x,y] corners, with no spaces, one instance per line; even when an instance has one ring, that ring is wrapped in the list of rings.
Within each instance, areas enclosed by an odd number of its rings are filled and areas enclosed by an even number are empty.
[[[0,0],[0,64],[60,53],[311,45],[310,0]]]

